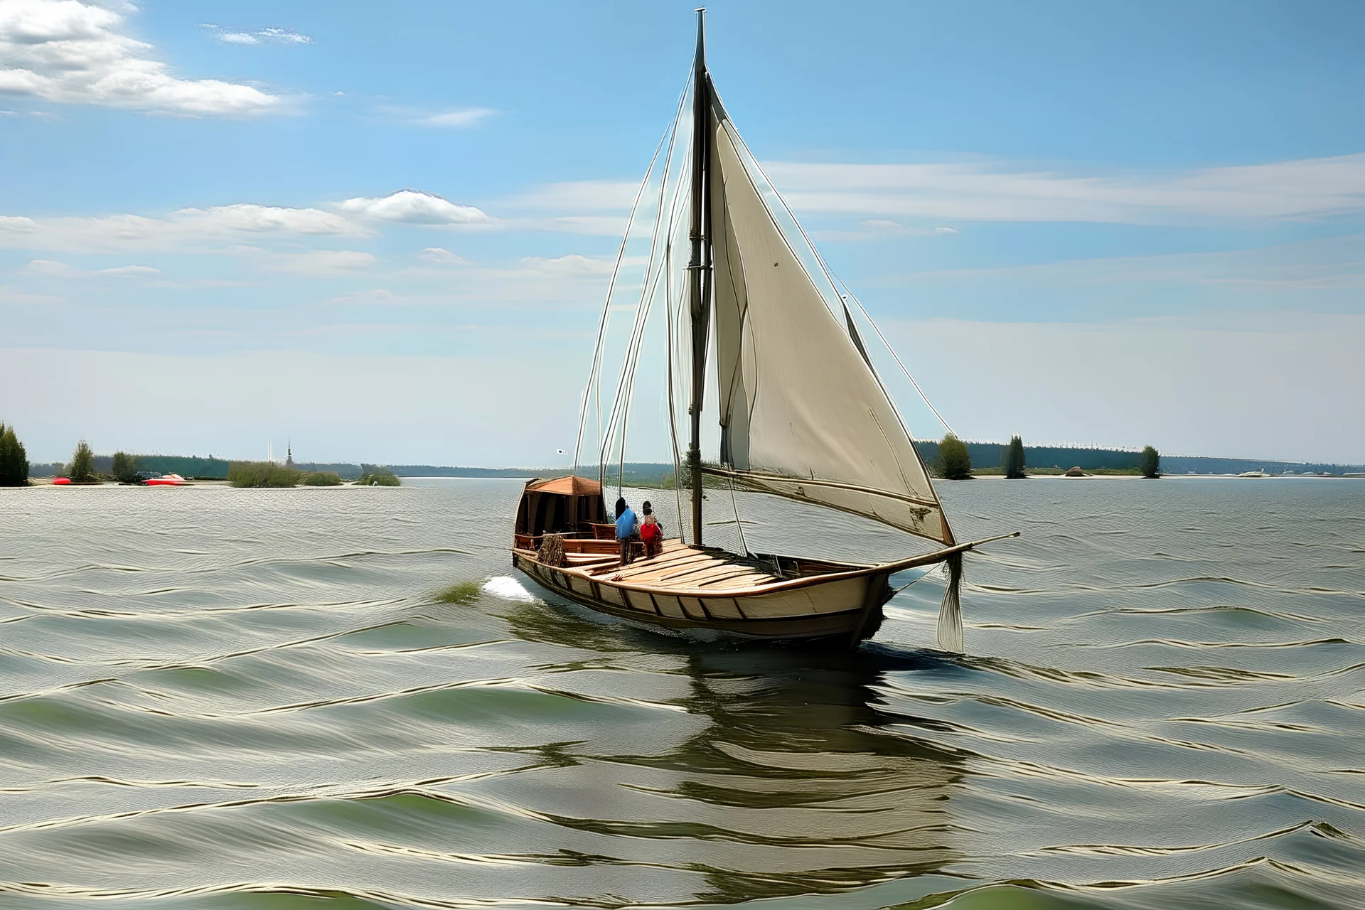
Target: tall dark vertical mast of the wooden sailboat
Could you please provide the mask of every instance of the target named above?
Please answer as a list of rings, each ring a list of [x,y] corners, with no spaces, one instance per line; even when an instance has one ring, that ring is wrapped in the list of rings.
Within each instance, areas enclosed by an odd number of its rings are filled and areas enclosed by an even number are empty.
[[[687,460],[692,475],[692,543],[702,544],[702,400],[706,394],[706,336],[711,319],[711,256],[703,233],[703,214],[710,209],[711,119],[710,80],[706,75],[706,7],[696,11],[696,63],[692,70],[692,258],[688,262],[688,303],[692,311],[692,441]],[[708,225],[706,225],[708,226]]]

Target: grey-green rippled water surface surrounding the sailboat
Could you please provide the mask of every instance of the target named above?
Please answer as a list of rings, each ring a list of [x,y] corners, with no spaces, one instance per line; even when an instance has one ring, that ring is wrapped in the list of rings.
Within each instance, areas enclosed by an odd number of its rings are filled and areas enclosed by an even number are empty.
[[[966,658],[595,619],[519,490],[0,490],[0,905],[1365,906],[1365,482],[945,484]]]

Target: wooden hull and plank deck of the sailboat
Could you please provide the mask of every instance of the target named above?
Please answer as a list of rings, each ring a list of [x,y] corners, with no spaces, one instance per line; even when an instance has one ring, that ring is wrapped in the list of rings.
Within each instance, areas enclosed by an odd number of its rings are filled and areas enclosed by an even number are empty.
[[[613,542],[614,543],[614,542]],[[577,604],[673,630],[786,641],[870,637],[880,626],[891,591],[882,566],[822,563],[811,576],[777,577],[732,554],[689,550],[667,542],[651,561],[621,568],[590,559],[542,563],[534,550],[513,548],[512,565]]]

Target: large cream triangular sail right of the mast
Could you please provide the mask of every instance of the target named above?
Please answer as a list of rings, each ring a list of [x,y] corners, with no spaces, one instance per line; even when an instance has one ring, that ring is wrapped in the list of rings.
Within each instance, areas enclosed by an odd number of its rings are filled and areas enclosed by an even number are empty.
[[[718,102],[710,117],[710,233],[721,468],[749,490],[953,533],[895,407],[782,235]]]

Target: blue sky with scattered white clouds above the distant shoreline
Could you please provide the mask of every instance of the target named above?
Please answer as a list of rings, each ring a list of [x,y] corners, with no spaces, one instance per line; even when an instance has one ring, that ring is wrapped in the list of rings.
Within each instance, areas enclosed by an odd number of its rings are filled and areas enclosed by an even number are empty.
[[[692,29],[0,0],[0,420],[34,458],[553,463]],[[749,147],[961,435],[1267,458],[1365,461],[1362,42],[1351,3],[708,12]]]

